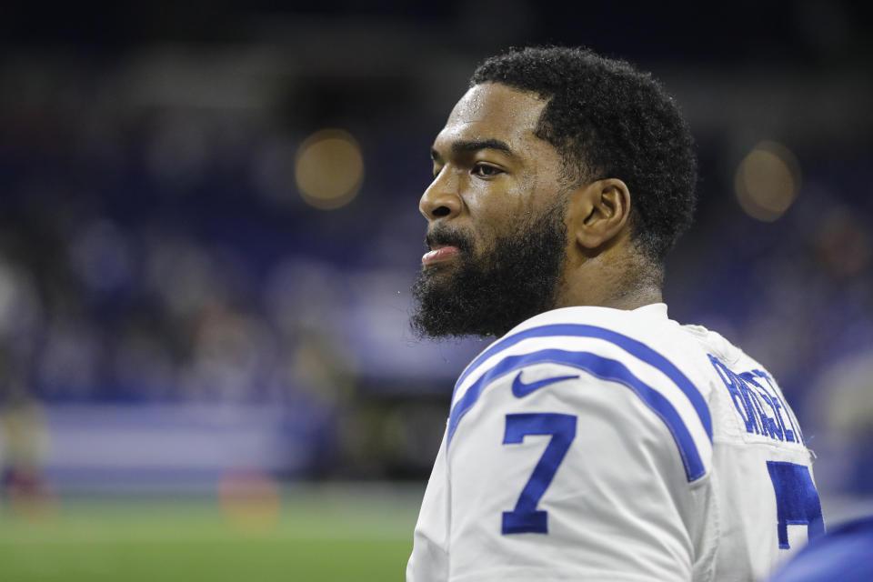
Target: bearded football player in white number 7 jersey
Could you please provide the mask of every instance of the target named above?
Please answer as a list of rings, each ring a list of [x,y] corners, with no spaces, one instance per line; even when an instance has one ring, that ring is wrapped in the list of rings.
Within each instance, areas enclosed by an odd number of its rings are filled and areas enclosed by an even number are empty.
[[[498,339],[457,379],[409,582],[748,581],[823,531],[776,380],[662,302],[697,179],[662,85],[513,50],[432,157],[413,326]]]

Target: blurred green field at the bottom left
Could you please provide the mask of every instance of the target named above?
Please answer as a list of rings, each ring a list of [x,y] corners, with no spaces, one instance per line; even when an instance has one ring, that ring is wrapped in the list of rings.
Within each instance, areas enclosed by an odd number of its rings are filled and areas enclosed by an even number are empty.
[[[77,497],[0,516],[2,582],[402,580],[422,491],[286,490],[267,507],[216,497]]]

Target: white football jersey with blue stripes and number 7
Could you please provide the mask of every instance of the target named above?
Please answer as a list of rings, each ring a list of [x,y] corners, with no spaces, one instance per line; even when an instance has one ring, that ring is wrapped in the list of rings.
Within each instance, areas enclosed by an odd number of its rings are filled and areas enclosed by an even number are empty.
[[[664,304],[567,307],[458,379],[406,580],[747,582],[823,530],[758,362]]]

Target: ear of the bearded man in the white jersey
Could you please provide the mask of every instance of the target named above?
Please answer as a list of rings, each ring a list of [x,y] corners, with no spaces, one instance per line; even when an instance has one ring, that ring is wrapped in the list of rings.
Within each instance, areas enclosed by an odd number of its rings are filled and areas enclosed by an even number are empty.
[[[630,191],[618,178],[597,180],[570,194],[570,234],[587,249],[615,238],[630,216]]]

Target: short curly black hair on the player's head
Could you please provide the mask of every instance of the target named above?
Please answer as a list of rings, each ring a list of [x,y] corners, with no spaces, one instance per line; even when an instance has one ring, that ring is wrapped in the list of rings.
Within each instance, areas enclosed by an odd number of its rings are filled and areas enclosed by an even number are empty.
[[[513,48],[479,65],[470,86],[500,83],[548,103],[537,137],[564,157],[567,180],[614,177],[631,193],[637,248],[663,264],[691,225],[694,140],[676,101],[652,75],[585,48]]]

